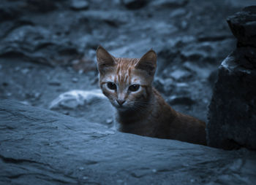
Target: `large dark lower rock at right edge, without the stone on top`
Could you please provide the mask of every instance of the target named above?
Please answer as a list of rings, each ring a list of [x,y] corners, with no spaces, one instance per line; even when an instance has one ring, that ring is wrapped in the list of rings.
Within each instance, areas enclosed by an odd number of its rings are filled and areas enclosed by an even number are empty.
[[[219,67],[208,111],[210,146],[229,149],[237,143],[256,149],[256,70],[245,68],[241,56],[237,50]]]

